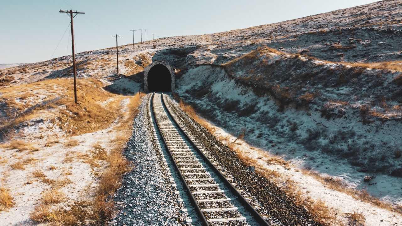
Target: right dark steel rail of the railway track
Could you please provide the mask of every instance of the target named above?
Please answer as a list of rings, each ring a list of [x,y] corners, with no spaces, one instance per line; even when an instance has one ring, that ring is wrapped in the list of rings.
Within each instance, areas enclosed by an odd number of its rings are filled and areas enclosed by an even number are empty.
[[[214,173],[216,173],[218,175],[219,179],[221,179],[225,183],[225,185],[234,193],[234,195],[237,196],[240,203],[242,203],[244,205],[244,207],[250,212],[250,214],[252,214],[252,216],[254,217],[254,220],[256,220],[256,222],[258,222],[260,225],[269,226],[268,222],[240,194],[240,192],[232,185],[232,183],[230,183],[230,181],[228,181],[228,179],[226,179],[226,177],[215,167],[215,165],[207,158],[207,156],[205,156],[205,154],[197,147],[197,145],[193,142],[193,140],[191,140],[191,138],[187,135],[187,133],[180,127],[180,125],[177,123],[176,119],[174,119],[174,117],[172,116],[170,111],[167,109],[166,103],[163,98],[163,93],[160,95],[160,97],[162,99],[163,108],[166,110],[166,112],[168,113],[168,115],[170,116],[172,121],[176,124],[176,126],[178,127],[180,132],[182,132],[183,135],[185,136],[185,138],[187,138],[189,140],[191,146],[193,146],[193,148],[198,152],[198,154],[203,158],[203,160],[205,160],[205,162],[207,162],[207,164],[209,165],[209,167],[212,168]],[[152,96],[152,98],[153,98],[153,96]],[[197,204],[197,206],[198,206],[198,204]]]

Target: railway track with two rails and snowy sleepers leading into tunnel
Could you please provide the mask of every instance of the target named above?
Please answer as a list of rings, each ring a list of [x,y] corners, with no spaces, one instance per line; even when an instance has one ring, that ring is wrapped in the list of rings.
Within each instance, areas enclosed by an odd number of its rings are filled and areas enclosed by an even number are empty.
[[[197,147],[166,107],[163,94],[150,98],[152,122],[203,225],[269,225]]]

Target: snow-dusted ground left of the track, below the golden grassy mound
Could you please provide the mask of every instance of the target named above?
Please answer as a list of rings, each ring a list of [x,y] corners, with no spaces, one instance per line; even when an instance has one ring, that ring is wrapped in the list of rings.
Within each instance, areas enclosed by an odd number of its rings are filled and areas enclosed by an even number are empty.
[[[78,200],[91,201],[107,166],[98,156],[115,148],[115,138],[121,139],[119,123],[129,117],[128,103],[129,97],[121,98],[119,114],[123,117],[105,129],[77,136],[66,136],[51,120],[60,109],[41,110],[25,121],[13,135],[23,145],[12,148],[8,141],[0,147],[0,187],[9,191],[13,201],[11,208],[0,212],[0,225],[34,224],[30,214],[42,203],[49,204],[50,196],[57,198],[50,201],[53,209]]]

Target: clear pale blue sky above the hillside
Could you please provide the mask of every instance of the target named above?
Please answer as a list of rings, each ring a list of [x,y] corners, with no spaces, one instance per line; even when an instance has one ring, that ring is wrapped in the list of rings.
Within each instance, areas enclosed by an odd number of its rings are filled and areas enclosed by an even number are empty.
[[[0,0],[0,64],[71,54],[70,18],[78,52],[176,35],[203,35],[286,21],[375,0]],[[67,29],[67,30],[66,30]],[[63,39],[62,36],[66,31]],[[145,31],[143,31],[143,40]]]

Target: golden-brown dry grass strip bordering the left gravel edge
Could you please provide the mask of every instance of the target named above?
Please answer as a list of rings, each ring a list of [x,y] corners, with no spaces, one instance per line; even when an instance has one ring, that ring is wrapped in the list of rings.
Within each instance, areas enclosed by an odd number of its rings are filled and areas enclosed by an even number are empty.
[[[105,220],[108,220],[113,216],[114,203],[113,201],[106,201],[106,198],[113,194],[120,186],[123,173],[127,172],[130,168],[129,161],[124,158],[122,152],[125,148],[125,143],[131,135],[133,118],[138,113],[137,108],[139,103],[138,94],[131,97],[129,111],[118,116],[123,119],[120,120],[119,125],[115,127],[120,131],[120,135],[116,136],[111,141],[114,144],[114,148],[109,154],[102,146],[100,146],[100,144],[94,144],[92,146],[93,150],[91,150],[91,154],[82,156],[85,160],[91,160],[94,163],[99,161],[107,162],[105,171],[100,174],[94,200],[77,201],[76,203],[68,205],[68,208],[66,209],[60,208],[51,210],[50,203],[62,201],[63,195],[57,193],[57,190],[50,191],[44,194],[44,197],[47,197],[48,201],[45,201],[45,198],[43,197],[42,205],[39,205],[35,208],[34,212],[30,214],[32,220],[38,223],[47,222],[50,225],[102,225]],[[66,155],[68,161],[74,157],[74,152],[68,152]],[[71,168],[64,172],[64,175],[70,174]]]

